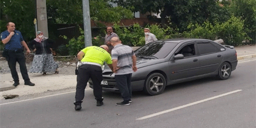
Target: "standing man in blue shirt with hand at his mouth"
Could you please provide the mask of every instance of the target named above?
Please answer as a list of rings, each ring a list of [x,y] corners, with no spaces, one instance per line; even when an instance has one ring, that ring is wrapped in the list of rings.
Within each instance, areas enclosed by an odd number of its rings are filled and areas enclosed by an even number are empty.
[[[24,41],[20,31],[15,30],[15,24],[13,22],[8,22],[6,24],[7,30],[1,33],[1,40],[5,45],[5,52],[6,52],[6,60],[8,61],[9,68],[11,70],[12,78],[14,80],[13,86],[18,86],[19,83],[19,76],[16,70],[16,62],[20,65],[20,72],[22,78],[25,81],[25,85],[34,86],[34,83],[30,82],[28,77],[28,71],[26,67],[26,58],[23,53],[23,47],[26,48],[27,54],[30,53],[28,45]],[[22,45],[21,45],[22,44]]]

